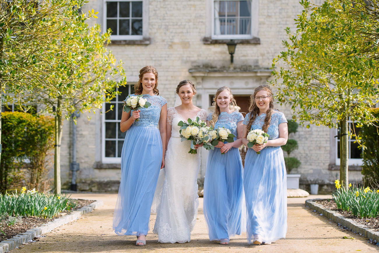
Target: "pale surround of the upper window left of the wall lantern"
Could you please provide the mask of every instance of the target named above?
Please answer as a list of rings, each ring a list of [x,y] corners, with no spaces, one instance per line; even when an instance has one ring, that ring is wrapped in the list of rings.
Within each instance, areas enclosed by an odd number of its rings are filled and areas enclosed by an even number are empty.
[[[149,25],[149,1],[148,0],[103,0],[103,27],[106,28],[106,3],[107,2],[142,2],[142,35],[111,35],[111,40],[142,40],[148,37]],[[118,10],[117,10],[118,11]],[[104,29],[105,30],[105,29]]]

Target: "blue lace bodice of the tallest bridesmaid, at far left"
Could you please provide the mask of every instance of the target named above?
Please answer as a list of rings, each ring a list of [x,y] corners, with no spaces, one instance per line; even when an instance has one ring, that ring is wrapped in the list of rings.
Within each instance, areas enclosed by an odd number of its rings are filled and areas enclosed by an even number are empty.
[[[136,96],[136,94],[130,94],[126,97],[125,101],[128,99],[130,96]],[[161,108],[164,104],[167,103],[166,99],[157,96],[157,95],[149,95],[149,94],[143,94],[143,98],[147,99],[147,102],[151,103],[151,106],[148,108],[141,108],[141,112],[139,112],[139,121],[133,122],[133,126],[153,126],[157,127],[159,118],[161,116]],[[130,113],[132,113],[130,111]]]

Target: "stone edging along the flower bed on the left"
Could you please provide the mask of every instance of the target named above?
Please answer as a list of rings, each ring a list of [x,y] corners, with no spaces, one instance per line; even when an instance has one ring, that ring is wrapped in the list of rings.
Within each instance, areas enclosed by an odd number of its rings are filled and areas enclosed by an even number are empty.
[[[79,217],[83,214],[92,212],[95,208],[99,208],[102,205],[103,201],[97,200],[95,202],[92,202],[90,205],[83,206],[82,208],[79,208],[76,211],[72,211],[70,214],[66,214],[61,218],[57,218],[37,228],[32,228],[25,233],[17,234],[12,238],[6,239],[5,241],[0,242],[0,253],[6,253],[15,249],[16,247],[20,247],[20,245],[26,244],[27,242],[33,240],[34,237],[40,237],[42,234],[47,233],[57,228],[58,226],[62,226],[66,223],[69,223],[70,221],[79,219]]]

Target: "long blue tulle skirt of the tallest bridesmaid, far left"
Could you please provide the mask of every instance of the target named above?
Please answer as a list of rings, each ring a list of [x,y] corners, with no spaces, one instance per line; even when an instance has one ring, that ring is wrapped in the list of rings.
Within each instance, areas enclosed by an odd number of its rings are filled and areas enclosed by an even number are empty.
[[[146,235],[162,163],[158,128],[131,126],[121,153],[121,183],[113,215],[118,235]]]

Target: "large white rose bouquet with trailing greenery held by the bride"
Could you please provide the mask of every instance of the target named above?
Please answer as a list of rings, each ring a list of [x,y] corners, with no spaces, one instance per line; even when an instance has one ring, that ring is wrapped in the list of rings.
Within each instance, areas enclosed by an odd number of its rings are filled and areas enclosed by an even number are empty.
[[[180,126],[180,137],[182,137],[182,141],[190,140],[191,141],[191,149],[188,151],[190,154],[197,154],[197,150],[195,149],[196,144],[202,144],[207,150],[213,149],[213,145],[210,143],[211,131],[213,130],[211,127],[207,126],[207,124],[200,120],[199,117],[196,117],[196,120],[188,119],[188,123],[180,121],[178,123]]]

